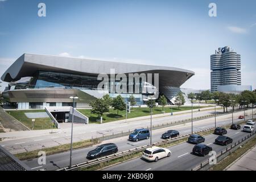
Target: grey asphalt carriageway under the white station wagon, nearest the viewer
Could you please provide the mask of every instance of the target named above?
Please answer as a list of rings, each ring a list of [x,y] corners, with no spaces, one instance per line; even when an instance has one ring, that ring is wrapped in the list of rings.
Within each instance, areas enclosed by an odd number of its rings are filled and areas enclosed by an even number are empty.
[[[241,141],[249,133],[245,133],[240,130],[228,130],[228,134],[226,136],[233,139],[233,144]],[[217,153],[221,150],[225,150],[227,146],[220,146],[218,144],[214,144],[215,138],[218,135],[210,134],[205,137],[204,144],[213,148],[213,151]],[[191,143],[181,143],[176,146],[169,147],[168,149],[171,150],[172,155],[170,158],[163,158],[160,159],[158,162],[148,162],[143,158],[136,158],[130,160],[128,162],[124,162],[113,167],[105,168],[105,171],[185,171],[191,170],[192,168],[196,167],[200,163],[204,162],[205,160],[209,159],[209,155],[197,156],[193,155],[192,148],[195,144]],[[228,144],[230,146],[230,144]]]

